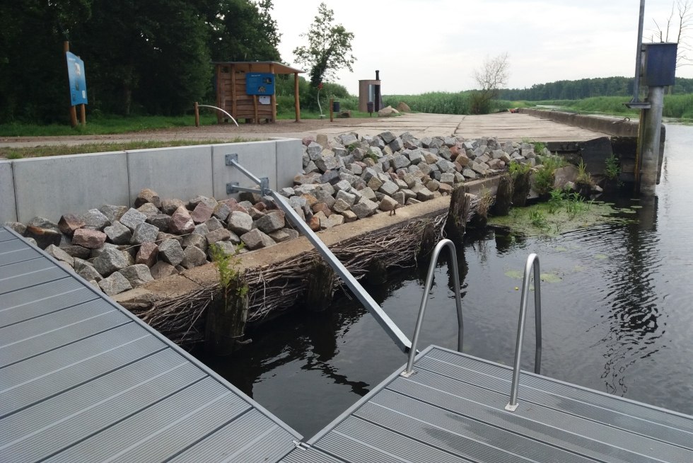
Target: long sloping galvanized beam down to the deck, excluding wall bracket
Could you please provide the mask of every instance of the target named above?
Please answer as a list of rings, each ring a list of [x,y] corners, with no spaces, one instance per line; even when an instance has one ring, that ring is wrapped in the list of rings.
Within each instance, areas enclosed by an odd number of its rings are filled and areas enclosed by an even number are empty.
[[[380,324],[385,332],[390,335],[392,341],[395,341],[397,347],[399,347],[404,353],[408,352],[409,349],[412,348],[412,342],[409,341],[407,336],[402,333],[402,330],[395,325],[395,322],[390,319],[388,314],[385,314],[385,311],[383,311],[378,303],[373,300],[373,297],[371,297],[371,295],[369,295],[368,292],[363,289],[359,281],[354,278],[354,275],[351,275],[349,270],[347,270],[347,268],[344,267],[341,262],[339,262],[339,259],[334,256],[332,251],[330,251],[330,248],[325,246],[325,243],[320,241],[318,235],[316,235],[315,232],[308,227],[308,224],[301,219],[301,216],[298,215],[295,210],[293,210],[293,207],[289,205],[286,198],[273,190],[270,190],[269,194],[272,195],[272,198],[274,198],[277,205],[279,205],[279,207],[286,212],[286,215],[289,216],[291,222],[293,222],[301,233],[308,238],[308,241],[315,246],[322,258],[324,258],[325,261],[330,264],[332,269],[334,269],[334,272],[339,275],[339,278],[341,278],[342,281],[349,287],[351,292],[354,293],[361,304],[363,304],[363,306],[371,312],[371,314],[375,317],[375,320],[378,321],[378,324]]]

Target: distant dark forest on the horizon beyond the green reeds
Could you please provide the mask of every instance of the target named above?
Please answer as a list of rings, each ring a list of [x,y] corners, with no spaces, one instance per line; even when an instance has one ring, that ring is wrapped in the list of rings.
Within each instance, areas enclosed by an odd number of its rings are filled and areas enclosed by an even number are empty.
[[[510,101],[580,100],[593,96],[629,96],[633,94],[632,77],[603,77],[577,81],[535,84],[530,88],[506,88],[499,98]],[[677,78],[671,93],[693,93],[693,79]]]

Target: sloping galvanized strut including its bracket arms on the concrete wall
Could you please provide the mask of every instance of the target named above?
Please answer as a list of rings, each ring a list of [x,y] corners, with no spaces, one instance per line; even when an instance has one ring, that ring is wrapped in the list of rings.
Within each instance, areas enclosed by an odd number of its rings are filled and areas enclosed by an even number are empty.
[[[231,194],[237,193],[238,191],[247,191],[250,193],[258,193],[263,196],[272,196],[276,202],[276,205],[278,205],[281,210],[283,210],[286,215],[289,216],[291,222],[293,222],[293,224],[295,224],[296,227],[301,230],[301,233],[308,239],[308,241],[315,246],[322,258],[324,258],[325,261],[330,264],[330,266],[334,269],[334,272],[339,275],[339,278],[342,278],[342,281],[349,287],[351,292],[354,293],[356,298],[359,299],[361,304],[363,304],[363,306],[371,312],[371,315],[375,317],[375,320],[378,321],[378,324],[380,324],[385,332],[388,333],[397,347],[400,348],[400,350],[402,350],[404,353],[409,352],[409,349],[412,347],[412,341],[409,341],[409,338],[402,333],[402,330],[400,330],[395,322],[390,319],[390,316],[385,314],[385,311],[383,311],[380,305],[375,302],[373,297],[371,297],[363,286],[361,286],[359,281],[354,278],[354,275],[351,275],[349,270],[347,270],[347,268],[344,267],[341,262],[339,262],[339,259],[337,259],[337,256],[334,256],[332,251],[330,251],[330,248],[325,246],[325,243],[320,241],[318,235],[316,235],[315,232],[308,227],[308,224],[305,223],[301,216],[298,215],[295,210],[293,210],[293,207],[291,207],[286,198],[269,188],[269,180],[267,178],[257,178],[246,168],[238,164],[238,155],[227,154],[225,157],[227,166],[238,168],[243,175],[250,178],[250,180],[257,183],[257,185],[260,185],[260,189],[257,189],[241,187],[238,185],[238,183],[227,183],[226,193]]]

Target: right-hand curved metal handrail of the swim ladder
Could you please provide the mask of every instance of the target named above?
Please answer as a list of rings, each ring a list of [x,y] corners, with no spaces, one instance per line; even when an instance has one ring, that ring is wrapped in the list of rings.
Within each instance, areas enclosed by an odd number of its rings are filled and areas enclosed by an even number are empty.
[[[510,401],[506,405],[507,411],[516,411],[518,408],[518,389],[520,387],[520,355],[522,355],[522,340],[525,334],[525,319],[527,318],[527,299],[530,292],[530,271],[534,269],[534,311],[535,332],[537,336],[534,356],[534,372],[539,375],[542,370],[542,291],[541,273],[539,268],[539,256],[532,253],[527,258],[525,265],[525,277],[522,282],[522,298],[520,300],[520,320],[518,321],[518,339],[515,345],[515,366],[513,367],[513,383],[510,389]]]

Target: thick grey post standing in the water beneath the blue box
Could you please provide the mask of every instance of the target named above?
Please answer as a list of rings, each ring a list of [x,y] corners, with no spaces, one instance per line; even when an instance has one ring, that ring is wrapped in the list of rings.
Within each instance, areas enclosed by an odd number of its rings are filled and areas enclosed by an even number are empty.
[[[640,122],[643,129],[639,153],[641,164],[639,193],[653,196],[657,185],[659,167],[664,87],[649,87],[647,100],[651,107],[648,110],[643,110],[643,120]]]

